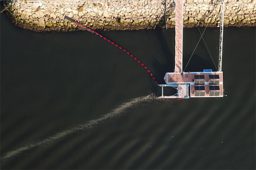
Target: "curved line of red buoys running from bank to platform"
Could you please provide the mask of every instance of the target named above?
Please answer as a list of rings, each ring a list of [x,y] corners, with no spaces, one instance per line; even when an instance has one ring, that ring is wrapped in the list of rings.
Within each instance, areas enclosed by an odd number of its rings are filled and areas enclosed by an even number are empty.
[[[133,56],[132,54],[130,54],[128,51],[126,51],[126,50],[123,49],[122,47],[118,46],[118,45],[115,44],[114,42],[110,41],[109,39],[103,37],[102,35],[100,35],[100,34],[97,33],[96,31],[94,31],[94,30],[92,30],[92,29],[90,29],[90,28],[88,28],[88,27],[86,27],[86,26],[83,26],[81,23],[74,21],[73,19],[67,17],[66,15],[64,15],[63,17],[66,18],[67,20],[73,22],[73,23],[76,24],[77,26],[80,26],[80,27],[82,27],[83,29],[85,29],[85,30],[87,30],[87,31],[89,31],[89,32],[91,32],[91,33],[94,33],[95,35],[100,36],[101,38],[107,40],[107,41],[110,42],[111,44],[115,45],[115,46],[118,47],[119,49],[121,49],[121,50],[123,50],[124,52],[126,52],[126,54],[129,54],[129,55],[130,55],[131,57],[133,57],[134,60],[136,60],[142,67],[144,67],[144,69],[146,69],[148,73],[150,73],[151,77],[153,78],[153,80],[154,80],[155,83],[157,84],[157,81],[156,81],[155,77],[153,76],[153,74],[150,72],[150,70],[148,70],[148,68],[147,68],[140,60],[138,60],[138,58],[134,57],[134,56]]]

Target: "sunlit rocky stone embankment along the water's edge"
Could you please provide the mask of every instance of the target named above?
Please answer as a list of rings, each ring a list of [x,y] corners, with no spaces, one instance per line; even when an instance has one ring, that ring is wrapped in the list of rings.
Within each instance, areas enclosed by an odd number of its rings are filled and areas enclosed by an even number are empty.
[[[67,15],[91,29],[133,30],[175,27],[173,0],[48,1],[12,0],[6,13],[18,26],[34,31],[81,29]],[[219,0],[184,0],[184,27],[217,27]],[[256,26],[256,0],[225,0],[225,26]]]

